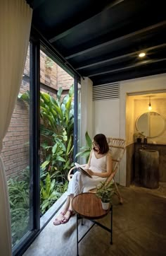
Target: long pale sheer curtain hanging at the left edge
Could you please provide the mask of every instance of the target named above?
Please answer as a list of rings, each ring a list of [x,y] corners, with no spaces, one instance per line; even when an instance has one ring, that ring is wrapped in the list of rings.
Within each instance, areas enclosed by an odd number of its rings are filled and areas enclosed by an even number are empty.
[[[22,81],[31,21],[32,9],[25,0],[0,0],[0,153]],[[11,254],[8,188],[0,158],[0,255]]]

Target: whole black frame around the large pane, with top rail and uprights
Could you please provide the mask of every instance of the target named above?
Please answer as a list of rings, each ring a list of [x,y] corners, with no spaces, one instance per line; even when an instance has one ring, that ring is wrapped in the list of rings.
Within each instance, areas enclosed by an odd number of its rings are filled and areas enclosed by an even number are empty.
[[[44,50],[53,61],[74,77],[74,159],[77,154],[77,92],[80,76],[66,66],[65,59],[32,28],[30,35],[30,231],[13,247],[13,256],[23,255],[53,217],[51,216],[40,228],[40,50]]]

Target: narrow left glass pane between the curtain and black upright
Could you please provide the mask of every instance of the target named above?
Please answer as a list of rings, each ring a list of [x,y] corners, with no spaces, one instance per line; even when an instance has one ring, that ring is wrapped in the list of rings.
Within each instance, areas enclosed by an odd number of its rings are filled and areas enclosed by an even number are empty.
[[[12,245],[30,230],[30,47],[1,156],[8,180]]]

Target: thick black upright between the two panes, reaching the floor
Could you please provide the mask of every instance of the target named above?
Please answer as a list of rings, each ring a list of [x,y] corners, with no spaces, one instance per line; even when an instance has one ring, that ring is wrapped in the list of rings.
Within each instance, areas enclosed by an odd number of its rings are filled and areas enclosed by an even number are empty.
[[[13,256],[23,255],[40,231],[39,187],[39,40],[30,40],[30,231],[13,247]]]

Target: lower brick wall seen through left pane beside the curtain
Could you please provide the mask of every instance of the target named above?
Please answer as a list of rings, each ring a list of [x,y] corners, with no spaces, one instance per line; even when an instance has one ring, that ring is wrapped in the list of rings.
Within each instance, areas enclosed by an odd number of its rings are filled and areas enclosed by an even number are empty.
[[[28,89],[29,84],[23,81],[20,92]],[[20,175],[29,165],[29,136],[29,109],[22,100],[17,100],[1,151],[7,177]]]

